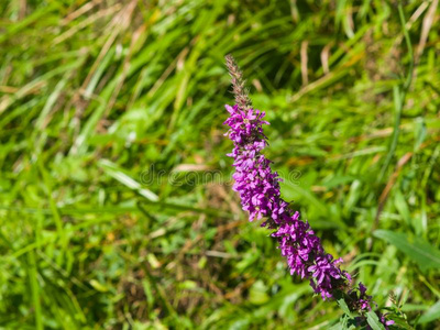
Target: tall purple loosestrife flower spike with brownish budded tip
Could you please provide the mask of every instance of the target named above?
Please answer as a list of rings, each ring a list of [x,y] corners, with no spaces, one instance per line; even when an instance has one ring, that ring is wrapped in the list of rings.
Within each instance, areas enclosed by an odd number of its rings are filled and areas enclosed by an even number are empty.
[[[366,287],[360,283],[358,289],[351,289],[350,274],[339,266],[342,258],[334,260],[326,253],[308,222],[300,220],[299,212],[293,211],[280,197],[282,179],[272,170],[272,162],[261,153],[267,146],[263,125],[270,123],[264,120],[265,112],[252,108],[242,74],[232,56],[227,56],[227,66],[237,102],[233,107],[226,106],[230,114],[224,122],[230,127],[226,135],[234,144],[228,156],[233,158],[235,167],[233,190],[240,195],[249,220],[264,219],[262,227],[273,230],[272,237],[278,241],[290,274],[309,279],[322,299],[345,296],[352,310],[370,311],[372,297],[366,295]],[[380,317],[385,326],[391,324],[384,316]]]

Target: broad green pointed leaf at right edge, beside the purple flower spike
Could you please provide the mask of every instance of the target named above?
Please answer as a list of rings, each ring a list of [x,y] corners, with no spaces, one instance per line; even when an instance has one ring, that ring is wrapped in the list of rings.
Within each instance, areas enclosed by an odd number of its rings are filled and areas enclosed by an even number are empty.
[[[418,263],[422,272],[429,268],[440,268],[440,251],[421,238],[389,230],[376,230],[374,237],[395,245]]]

